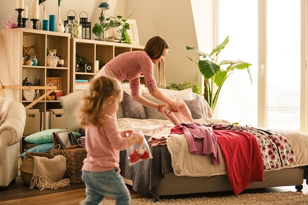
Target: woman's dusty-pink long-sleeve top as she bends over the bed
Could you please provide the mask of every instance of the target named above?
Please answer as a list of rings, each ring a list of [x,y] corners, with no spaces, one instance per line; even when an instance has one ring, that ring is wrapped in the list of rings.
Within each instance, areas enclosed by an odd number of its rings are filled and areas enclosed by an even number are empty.
[[[149,92],[157,89],[156,80],[153,76],[153,63],[145,51],[131,51],[119,54],[108,61],[104,67],[108,73],[112,73],[121,83],[124,80],[129,80],[131,97],[140,94],[140,75],[142,73]],[[98,76],[101,75],[103,75],[103,69],[98,73]]]

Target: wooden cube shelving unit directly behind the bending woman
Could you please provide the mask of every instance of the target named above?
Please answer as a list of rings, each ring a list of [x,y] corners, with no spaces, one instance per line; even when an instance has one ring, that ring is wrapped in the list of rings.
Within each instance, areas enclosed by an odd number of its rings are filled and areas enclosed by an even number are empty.
[[[105,65],[113,57],[129,51],[142,50],[144,46],[131,45],[131,44],[121,44],[106,42],[101,40],[89,40],[81,38],[71,38],[71,83],[70,92],[75,92],[75,80],[88,80],[90,81],[95,76],[95,59],[99,57],[101,59],[101,64]],[[76,72],[76,53],[82,55],[85,59],[85,63],[91,66],[91,70],[82,68],[82,72]]]

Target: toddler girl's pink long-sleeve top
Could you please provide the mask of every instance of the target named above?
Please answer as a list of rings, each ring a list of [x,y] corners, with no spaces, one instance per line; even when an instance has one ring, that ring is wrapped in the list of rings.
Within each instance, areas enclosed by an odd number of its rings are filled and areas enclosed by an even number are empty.
[[[128,141],[112,116],[105,114],[104,118],[103,126],[88,124],[85,128],[87,157],[83,171],[104,172],[117,168],[120,172],[120,151],[128,148]]]

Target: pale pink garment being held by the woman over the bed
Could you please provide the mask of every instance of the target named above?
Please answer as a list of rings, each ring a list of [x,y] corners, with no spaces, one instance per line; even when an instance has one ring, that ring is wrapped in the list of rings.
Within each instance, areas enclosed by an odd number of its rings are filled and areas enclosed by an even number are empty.
[[[193,122],[191,112],[185,102],[181,98],[177,98],[178,103],[182,106],[177,112],[171,111],[169,106],[163,108],[163,114],[169,119],[172,124],[179,125],[182,122]]]

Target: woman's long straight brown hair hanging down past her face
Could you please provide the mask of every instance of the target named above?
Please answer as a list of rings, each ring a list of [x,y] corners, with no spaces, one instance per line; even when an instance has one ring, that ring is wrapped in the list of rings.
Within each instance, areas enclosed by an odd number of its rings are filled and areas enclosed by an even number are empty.
[[[169,49],[169,45],[160,36],[150,38],[144,47],[145,52],[153,60],[160,58],[165,49]],[[166,86],[164,61],[158,63],[156,69],[160,85]]]

